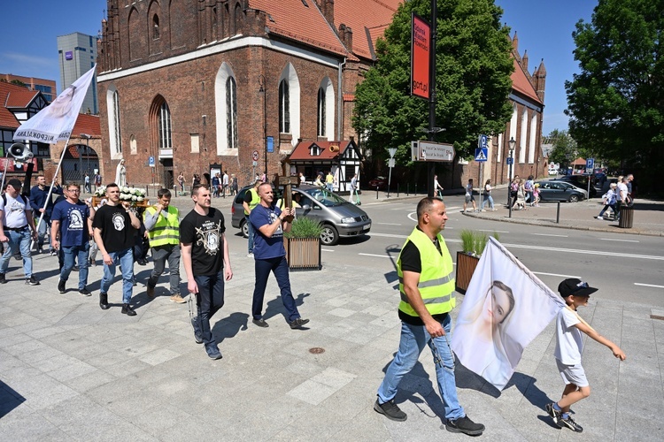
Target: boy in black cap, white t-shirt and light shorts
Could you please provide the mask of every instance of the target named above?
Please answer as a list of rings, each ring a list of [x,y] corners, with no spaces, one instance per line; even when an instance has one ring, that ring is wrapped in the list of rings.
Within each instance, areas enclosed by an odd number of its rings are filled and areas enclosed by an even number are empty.
[[[565,382],[565,390],[558,402],[546,404],[546,411],[560,428],[567,427],[578,433],[583,431],[583,427],[575,423],[569,415],[569,407],[591,395],[591,385],[588,384],[581,365],[583,350],[581,332],[609,347],[614,356],[621,361],[627,357],[620,347],[601,336],[576,314],[576,309],[588,305],[588,298],[597,290],[577,278],[567,278],[558,286],[558,292],[567,303],[567,309],[560,309],[556,317],[556,351],[553,355],[558,363],[560,376]]]

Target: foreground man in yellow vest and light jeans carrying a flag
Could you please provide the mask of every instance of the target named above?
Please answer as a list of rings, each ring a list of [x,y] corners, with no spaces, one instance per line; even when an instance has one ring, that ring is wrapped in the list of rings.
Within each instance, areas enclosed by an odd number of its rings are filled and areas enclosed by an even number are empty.
[[[397,355],[378,388],[374,410],[390,420],[405,421],[407,415],[398,408],[394,397],[401,379],[413,370],[422,350],[429,346],[447,420],[445,428],[476,436],[483,433],[484,425],[474,423],[459,404],[454,357],[447,336],[456,300],[452,255],[440,233],[446,222],[444,202],[427,197],[418,203],[417,226],[405,240],[397,260],[401,339]]]

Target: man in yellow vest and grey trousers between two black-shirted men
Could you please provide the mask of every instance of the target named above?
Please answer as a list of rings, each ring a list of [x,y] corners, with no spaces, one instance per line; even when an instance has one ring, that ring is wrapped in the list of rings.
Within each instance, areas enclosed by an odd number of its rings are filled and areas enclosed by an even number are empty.
[[[171,301],[185,302],[180,294],[180,213],[171,205],[170,190],[159,189],[157,204],[143,213],[143,224],[148,232],[154,261],[154,270],[147,284],[148,296],[154,298],[154,287],[168,262]]]

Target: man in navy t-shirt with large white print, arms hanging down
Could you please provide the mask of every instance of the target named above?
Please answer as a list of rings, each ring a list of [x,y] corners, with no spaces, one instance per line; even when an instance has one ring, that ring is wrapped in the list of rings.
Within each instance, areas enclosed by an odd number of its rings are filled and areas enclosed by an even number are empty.
[[[90,209],[79,199],[81,186],[76,183],[66,185],[66,200],[58,202],[50,217],[50,242],[54,249],[62,250],[63,265],[60,270],[58,292],[66,293],[66,282],[78,261],[78,290],[84,296],[88,290],[89,240],[92,236]]]

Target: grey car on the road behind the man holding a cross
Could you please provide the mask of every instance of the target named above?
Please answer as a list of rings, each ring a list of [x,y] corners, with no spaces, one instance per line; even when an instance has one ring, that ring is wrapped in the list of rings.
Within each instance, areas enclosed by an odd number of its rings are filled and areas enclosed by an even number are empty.
[[[250,187],[244,187],[235,197],[231,208],[231,225],[241,229],[243,236],[249,236],[242,202]],[[344,200],[341,196],[325,188],[315,186],[293,187],[299,194],[299,206],[296,217],[313,217],[323,225],[320,242],[325,246],[334,246],[339,238],[349,238],[367,234],[371,230],[371,218],[358,206]]]

